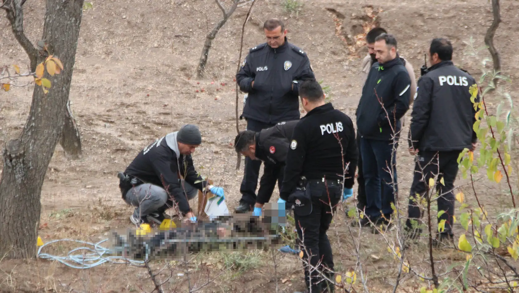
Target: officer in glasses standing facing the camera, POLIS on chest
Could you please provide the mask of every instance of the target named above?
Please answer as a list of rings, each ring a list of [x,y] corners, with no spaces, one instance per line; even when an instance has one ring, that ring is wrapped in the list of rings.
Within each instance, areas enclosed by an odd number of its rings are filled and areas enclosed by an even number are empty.
[[[286,39],[283,22],[269,19],[263,27],[267,42],[249,50],[236,75],[240,90],[247,93],[242,116],[247,130],[256,132],[299,119],[299,83],[314,78],[306,53]],[[256,202],[260,166],[261,161],[245,158],[237,213],[250,211]]]

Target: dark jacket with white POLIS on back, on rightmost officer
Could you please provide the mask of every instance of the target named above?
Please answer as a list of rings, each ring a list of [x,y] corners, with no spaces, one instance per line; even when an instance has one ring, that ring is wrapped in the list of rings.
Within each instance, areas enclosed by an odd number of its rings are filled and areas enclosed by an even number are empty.
[[[477,135],[473,130],[476,110],[469,88],[475,83],[452,61],[431,66],[418,80],[409,147],[420,151],[471,149]],[[475,101],[479,99],[477,94]]]

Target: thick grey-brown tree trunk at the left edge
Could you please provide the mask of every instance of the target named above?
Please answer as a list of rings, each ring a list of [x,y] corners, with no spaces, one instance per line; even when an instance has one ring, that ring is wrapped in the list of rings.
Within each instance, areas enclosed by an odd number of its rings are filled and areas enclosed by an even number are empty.
[[[30,114],[19,138],[6,143],[0,179],[0,256],[33,258],[40,217],[40,191],[60,139],[74,68],[84,0],[47,0],[43,39],[63,63],[47,94],[35,86]],[[41,51],[40,51],[41,52]],[[30,56],[31,58],[31,56]],[[38,53],[37,63],[45,55]]]

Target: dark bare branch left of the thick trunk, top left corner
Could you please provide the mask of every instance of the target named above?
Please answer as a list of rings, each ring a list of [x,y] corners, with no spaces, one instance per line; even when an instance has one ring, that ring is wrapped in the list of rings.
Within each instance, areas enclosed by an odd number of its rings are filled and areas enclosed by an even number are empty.
[[[18,40],[18,43],[20,43],[20,45],[23,47],[23,50],[25,50],[29,56],[29,60],[31,61],[31,71],[35,71],[38,51],[23,32],[23,3],[25,3],[24,0],[7,0],[2,4],[2,8],[7,12],[7,19],[11,24],[11,29],[13,34],[15,34],[16,40]],[[8,9],[6,9],[6,5],[9,5]]]

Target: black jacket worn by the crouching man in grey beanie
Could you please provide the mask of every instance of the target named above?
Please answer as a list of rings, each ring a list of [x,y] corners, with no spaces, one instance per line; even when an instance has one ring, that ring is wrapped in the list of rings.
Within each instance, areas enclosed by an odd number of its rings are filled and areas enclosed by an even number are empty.
[[[183,215],[193,211],[189,207],[187,196],[181,185],[180,175],[198,190],[203,190],[208,185],[207,181],[203,181],[195,171],[191,155],[180,155],[177,160],[175,152],[167,145],[165,137],[157,139],[141,150],[126,168],[125,174],[136,177],[144,183],[151,183],[162,188],[166,186],[167,189],[165,189],[169,193],[168,206],[173,206],[171,200],[171,196],[173,196]],[[164,184],[162,184],[162,178]]]

